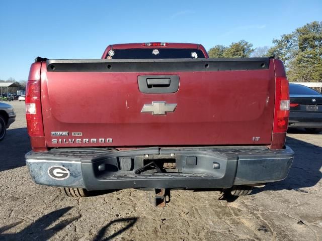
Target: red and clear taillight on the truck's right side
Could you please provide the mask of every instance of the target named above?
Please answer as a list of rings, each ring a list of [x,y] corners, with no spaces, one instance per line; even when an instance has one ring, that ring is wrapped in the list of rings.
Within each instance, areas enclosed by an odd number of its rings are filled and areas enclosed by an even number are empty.
[[[287,131],[290,112],[289,84],[285,77],[275,78],[275,111],[273,133]]]

